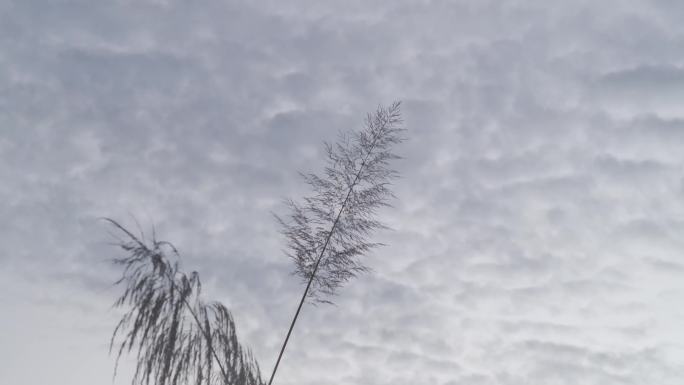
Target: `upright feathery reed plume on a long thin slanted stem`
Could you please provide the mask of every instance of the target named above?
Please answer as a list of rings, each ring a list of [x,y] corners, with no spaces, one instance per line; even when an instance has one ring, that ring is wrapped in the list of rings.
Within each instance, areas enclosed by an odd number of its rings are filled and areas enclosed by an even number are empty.
[[[295,263],[295,274],[306,282],[306,288],[269,385],[304,301],[330,303],[339,287],[368,270],[361,257],[381,245],[369,237],[385,228],[375,219],[376,212],[394,198],[390,184],[398,173],[390,161],[399,158],[392,147],[404,140],[401,124],[400,102],[395,102],[368,114],[362,130],[340,134],[335,144],[326,143],[323,174],[302,174],[313,195],[300,203],[288,201],[288,218],[276,216],[288,241],[287,254]]]

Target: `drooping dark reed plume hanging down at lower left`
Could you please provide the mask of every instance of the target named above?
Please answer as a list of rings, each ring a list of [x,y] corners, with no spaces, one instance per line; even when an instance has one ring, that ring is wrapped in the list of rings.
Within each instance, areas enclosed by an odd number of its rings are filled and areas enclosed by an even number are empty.
[[[105,220],[123,233],[117,245],[127,253],[114,259],[123,266],[116,284],[124,286],[114,306],[127,311],[114,329],[110,352],[120,339],[118,366],[124,352],[137,350],[133,384],[263,384],[256,360],[238,341],[230,311],[200,299],[199,275],[180,270],[176,248],[154,236],[147,244],[144,236]]]

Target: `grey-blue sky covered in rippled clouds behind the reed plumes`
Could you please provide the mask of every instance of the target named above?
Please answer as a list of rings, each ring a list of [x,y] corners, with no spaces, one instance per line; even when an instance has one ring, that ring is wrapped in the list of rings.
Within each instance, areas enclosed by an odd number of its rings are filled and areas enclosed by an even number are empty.
[[[402,101],[392,230],[278,385],[680,384],[684,4],[0,0],[0,383],[112,379],[111,217],[173,242],[270,373],[273,214]]]

